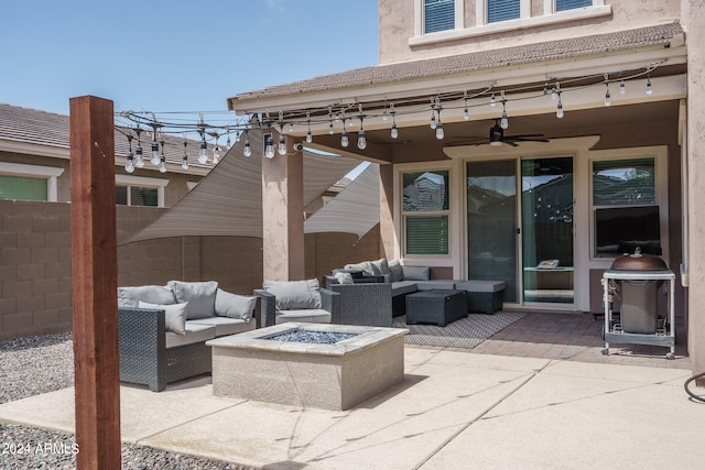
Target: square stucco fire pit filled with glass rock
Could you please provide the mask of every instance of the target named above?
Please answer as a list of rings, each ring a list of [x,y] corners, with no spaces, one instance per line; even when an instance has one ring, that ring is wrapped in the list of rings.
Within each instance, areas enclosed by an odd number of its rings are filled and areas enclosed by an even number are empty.
[[[349,409],[404,375],[402,328],[288,323],[207,342],[213,393]]]

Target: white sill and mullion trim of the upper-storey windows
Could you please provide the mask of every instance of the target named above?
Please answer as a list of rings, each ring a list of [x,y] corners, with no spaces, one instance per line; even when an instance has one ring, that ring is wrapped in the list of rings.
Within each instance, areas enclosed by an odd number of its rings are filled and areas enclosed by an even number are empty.
[[[487,23],[487,14],[485,1],[477,1],[475,8],[475,17],[477,19],[475,26],[464,28],[448,31],[438,31],[436,33],[416,35],[409,39],[410,46],[434,44],[446,41],[457,41],[466,37],[476,37],[486,34],[502,33],[506,31],[525,30],[529,28],[546,26],[551,24],[567,23],[578,20],[587,20],[612,14],[612,8],[609,4],[593,4],[593,7],[579,8],[574,10],[565,10],[544,14],[541,17],[531,17],[531,6],[528,0],[521,2],[521,18],[517,20],[500,21],[497,23]],[[525,4],[529,4],[528,7]],[[527,10],[529,9],[529,10]]]

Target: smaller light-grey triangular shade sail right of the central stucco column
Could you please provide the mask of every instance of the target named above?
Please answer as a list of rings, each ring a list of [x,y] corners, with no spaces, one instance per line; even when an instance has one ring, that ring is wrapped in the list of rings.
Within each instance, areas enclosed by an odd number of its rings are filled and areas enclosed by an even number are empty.
[[[330,203],[304,223],[304,233],[365,236],[379,223],[379,165],[370,164]]]

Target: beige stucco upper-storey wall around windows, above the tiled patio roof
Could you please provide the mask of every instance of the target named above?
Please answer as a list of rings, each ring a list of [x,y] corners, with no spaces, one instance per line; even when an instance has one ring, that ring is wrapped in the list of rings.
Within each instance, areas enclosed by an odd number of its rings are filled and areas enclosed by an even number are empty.
[[[612,33],[618,30],[669,23],[681,18],[681,0],[615,0],[605,2],[611,6],[612,11],[612,14],[607,17],[480,35],[448,43],[410,46],[409,39],[414,35],[414,1],[421,0],[379,0],[380,64]],[[543,1],[551,0],[532,0],[532,15],[543,14]],[[465,0],[466,28],[476,23],[475,8],[475,0]]]

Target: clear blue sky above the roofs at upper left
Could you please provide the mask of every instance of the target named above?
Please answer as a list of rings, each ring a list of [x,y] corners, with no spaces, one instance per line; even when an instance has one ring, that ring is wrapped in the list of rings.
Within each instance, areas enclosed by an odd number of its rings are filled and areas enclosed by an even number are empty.
[[[0,102],[225,111],[239,92],[378,64],[378,0],[2,0]]]

